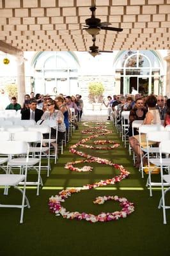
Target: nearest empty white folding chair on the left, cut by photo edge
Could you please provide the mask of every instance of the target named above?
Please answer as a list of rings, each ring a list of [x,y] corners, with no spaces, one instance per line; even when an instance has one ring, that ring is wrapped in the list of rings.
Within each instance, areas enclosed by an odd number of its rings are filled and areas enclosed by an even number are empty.
[[[26,159],[24,162],[25,172],[22,174],[10,174],[7,172],[6,174],[0,174],[0,186],[4,186],[5,188],[5,195],[8,194],[8,187],[13,186],[14,188],[19,189],[22,193],[22,203],[20,205],[5,205],[0,204],[0,207],[17,207],[21,209],[20,212],[20,223],[23,223],[24,217],[24,207],[30,208],[29,201],[26,197],[26,180],[27,180],[27,164],[29,160],[29,145],[24,141],[2,141],[0,142],[0,154],[8,154],[9,161],[12,161],[12,156],[16,154],[26,154]],[[23,164],[23,163],[22,163]],[[8,165],[9,166],[9,165]],[[8,170],[8,168],[7,168]],[[19,188],[18,185],[20,182],[24,182],[23,189]],[[25,204],[26,202],[26,204]]]

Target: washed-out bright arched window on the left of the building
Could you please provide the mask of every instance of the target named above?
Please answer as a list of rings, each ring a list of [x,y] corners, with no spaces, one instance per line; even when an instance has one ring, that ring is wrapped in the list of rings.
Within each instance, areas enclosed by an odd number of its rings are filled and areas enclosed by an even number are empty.
[[[35,93],[53,96],[79,93],[79,64],[70,52],[38,52],[32,65]]]

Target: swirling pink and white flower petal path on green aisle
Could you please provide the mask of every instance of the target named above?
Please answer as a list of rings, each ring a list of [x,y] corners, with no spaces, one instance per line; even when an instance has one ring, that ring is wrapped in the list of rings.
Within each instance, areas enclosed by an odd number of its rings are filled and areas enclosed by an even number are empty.
[[[74,165],[79,163],[108,164],[120,170],[120,175],[116,175],[115,177],[112,177],[112,179],[100,180],[99,182],[95,182],[94,184],[87,184],[85,186],[82,186],[82,188],[71,188],[71,189],[62,190],[61,192],[59,192],[59,195],[51,196],[49,198],[50,211],[54,212],[56,216],[61,215],[63,216],[63,218],[67,218],[70,220],[73,220],[73,219],[86,220],[92,223],[95,223],[97,221],[105,222],[105,221],[118,220],[120,218],[126,218],[129,214],[131,214],[134,211],[134,204],[132,202],[128,202],[127,198],[120,198],[118,196],[98,196],[96,200],[93,201],[94,204],[104,204],[104,202],[107,200],[114,200],[116,202],[120,202],[120,206],[122,207],[121,211],[100,212],[100,214],[98,215],[88,214],[86,212],[82,212],[82,213],[69,212],[69,211],[66,211],[66,209],[61,205],[61,203],[65,202],[66,198],[68,198],[69,196],[72,196],[73,193],[78,193],[78,192],[81,192],[82,190],[98,188],[100,186],[107,186],[109,184],[115,184],[116,182],[120,182],[122,179],[127,178],[129,175],[129,172],[122,165],[114,164],[107,159],[102,159],[100,157],[84,154],[83,152],[78,151],[76,149],[77,147],[81,146],[83,148],[91,148],[94,150],[95,149],[112,150],[113,148],[116,148],[119,146],[118,143],[115,143],[114,141],[111,141],[111,140],[93,141],[95,145],[112,144],[112,146],[109,146],[109,147],[93,147],[93,146],[86,145],[85,143],[89,140],[98,138],[98,136],[112,133],[112,131],[108,130],[107,126],[105,126],[105,124],[109,124],[108,122],[105,122],[105,123],[93,122],[93,123],[96,124],[97,127],[89,126],[88,122],[84,122],[84,126],[88,127],[88,129],[82,131],[82,134],[93,134],[93,135],[88,136],[85,139],[82,139],[81,141],[77,142],[75,145],[72,145],[69,148],[69,151],[71,153],[77,154],[78,156],[81,156],[81,157],[86,157],[86,159],[66,163],[65,168],[68,170],[71,170],[72,172],[91,172],[93,169],[93,167],[91,166],[83,166],[82,168],[77,168],[77,167],[74,167]]]

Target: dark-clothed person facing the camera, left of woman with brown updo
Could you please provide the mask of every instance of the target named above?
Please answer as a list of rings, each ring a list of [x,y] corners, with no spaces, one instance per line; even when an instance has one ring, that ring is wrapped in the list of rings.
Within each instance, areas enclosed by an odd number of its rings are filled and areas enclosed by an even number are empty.
[[[132,122],[134,120],[144,120],[146,116],[146,108],[143,106],[143,99],[139,98],[135,100],[134,108],[130,110],[129,114],[129,128],[128,128],[128,136],[132,136]],[[137,135],[137,129],[134,129],[134,135]]]

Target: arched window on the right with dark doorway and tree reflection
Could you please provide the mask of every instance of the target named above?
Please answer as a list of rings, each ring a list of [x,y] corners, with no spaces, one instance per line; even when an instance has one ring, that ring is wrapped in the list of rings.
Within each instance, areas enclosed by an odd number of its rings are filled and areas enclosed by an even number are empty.
[[[162,63],[153,51],[124,51],[114,61],[114,72],[120,77],[120,93],[148,95],[162,93]],[[117,84],[118,86],[118,84]]]

